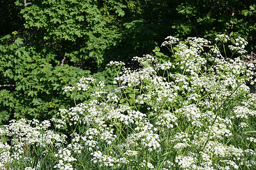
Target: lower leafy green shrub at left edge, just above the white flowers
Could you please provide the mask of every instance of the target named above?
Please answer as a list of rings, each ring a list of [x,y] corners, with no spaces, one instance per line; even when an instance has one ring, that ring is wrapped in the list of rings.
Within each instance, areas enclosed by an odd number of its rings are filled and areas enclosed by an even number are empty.
[[[14,41],[14,42],[12,42]],[[51,53],[39,53],[23,40],[5,36],[0,45],[0,121],[10,118],[47,118],[73,105],[62,88],[89,74],[68,65],[51,64]]]

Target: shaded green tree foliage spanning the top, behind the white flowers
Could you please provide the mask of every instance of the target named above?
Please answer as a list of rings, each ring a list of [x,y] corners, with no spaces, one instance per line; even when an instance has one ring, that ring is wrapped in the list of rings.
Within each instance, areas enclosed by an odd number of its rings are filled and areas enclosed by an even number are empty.
[[[58,61],[65,57],[65,63],[75,63],[93,72],[97,71],[95,67],[104,68],[110,60],[129,61],[150,53],[168,35],[213,40],[217,34],[225,33],[230,37],[245,37],[249,44],[255,40],[252,1],[31,0],[26,3],[24,6],[23,0],[16,1],[13,9],[16,12],[22,8],[20,15],[26,28],[23,38],[56,54]]]

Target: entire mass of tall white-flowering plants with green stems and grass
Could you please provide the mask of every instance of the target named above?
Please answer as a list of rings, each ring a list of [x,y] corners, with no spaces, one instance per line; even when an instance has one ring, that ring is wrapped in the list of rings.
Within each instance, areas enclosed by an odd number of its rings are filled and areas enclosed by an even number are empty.
[[[241,37],[232,56],[220,53],[228,40],[169,36],[169,61],[134,57],[136,70],[112,61],[113,84],[99,74],[106,83],[86,76],[66,86],[88,100],[50,120],[3,126],[1,168],[254,169],[256,95],[246,82],[255,83],[255,66]]]

